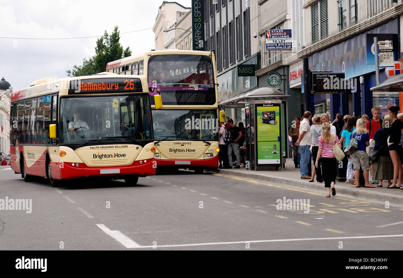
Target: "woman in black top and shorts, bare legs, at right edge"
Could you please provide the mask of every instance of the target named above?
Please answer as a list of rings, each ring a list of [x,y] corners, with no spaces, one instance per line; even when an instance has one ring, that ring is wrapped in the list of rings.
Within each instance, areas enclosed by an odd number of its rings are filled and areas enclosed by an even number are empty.
[[[398,106],[391,106],[388,108],[389,116],[391,116],[393,121],[391,128],[389,128],[389,130],[386,132],[386,135],[388,135],[389,154],[391,154],[391,159],[393,162],[393,183],[391,186],[388,186],[388,188],[400,188],[403,176],[403,167],[401,162],[403,157],[403,149],[402,146],[399,145],[401,130],[403,129],[403,122],[397,119],[398,112]]]

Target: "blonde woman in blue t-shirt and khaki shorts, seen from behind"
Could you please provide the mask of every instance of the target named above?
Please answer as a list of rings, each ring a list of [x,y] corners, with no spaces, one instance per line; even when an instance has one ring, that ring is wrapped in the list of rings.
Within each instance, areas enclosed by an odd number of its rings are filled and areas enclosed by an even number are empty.
[[[403,124],[403,123],[402,123]],[[359,187],[359,168],[361,167],[364,175],[365,187],[375,187],[368,181],[368,171],[370,170],[370,161],[366,151],[366,147],[370,144],[370,134],[366,128],[365,119],[357,120],[357,128],[353,131],[352,137],[357,141],[357,149],[351,153],[351,160],[353,161],[354,177]],[[400,135],[399,135],[400,140]]]

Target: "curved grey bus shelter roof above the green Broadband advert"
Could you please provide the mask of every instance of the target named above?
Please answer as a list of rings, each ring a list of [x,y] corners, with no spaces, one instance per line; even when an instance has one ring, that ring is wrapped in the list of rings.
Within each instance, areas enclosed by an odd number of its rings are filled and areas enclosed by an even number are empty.
[[[236,95],[235,97],[231,97],[224,101],[218,103],[218,105],[222,105],[225,108],[241,108],[245,107],[245,101],[253,101],[253,100],[269,100],[269,99],[285,99],[287,97],[291,97],[290,95],[284,95],[280,90],[270,88],[270,87],[262,87],[258,89],[254,89],[248,91],[246,93],[242,93]]]

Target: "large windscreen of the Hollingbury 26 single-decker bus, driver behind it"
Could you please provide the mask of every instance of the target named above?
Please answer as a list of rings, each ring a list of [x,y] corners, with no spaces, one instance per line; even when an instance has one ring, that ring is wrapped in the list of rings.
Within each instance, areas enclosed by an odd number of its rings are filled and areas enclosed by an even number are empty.
[[[130,144],[153,139],[150,101],[146,94],[61,98],[59,120],[60,144],[87,141]]]

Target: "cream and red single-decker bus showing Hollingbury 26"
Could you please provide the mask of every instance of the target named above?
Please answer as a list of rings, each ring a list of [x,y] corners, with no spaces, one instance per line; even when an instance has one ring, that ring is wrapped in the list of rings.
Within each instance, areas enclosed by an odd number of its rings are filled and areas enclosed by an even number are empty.
[[[79,177],[154,175],[154,137],[145,76],[97,74],[37,80],[11,95],[11,168],[53,187]]]

